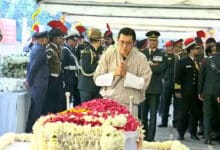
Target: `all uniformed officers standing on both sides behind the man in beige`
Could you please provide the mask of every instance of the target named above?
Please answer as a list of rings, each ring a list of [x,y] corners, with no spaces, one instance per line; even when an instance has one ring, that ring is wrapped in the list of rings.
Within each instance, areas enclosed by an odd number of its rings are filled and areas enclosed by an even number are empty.
[[[205,143],[212,144],[219,137],[220,44],[214,38],[203,44],[204,38],[197,36],[169,40],[162,50],[158,31],[146,36],[134,45],[146,56],[152,71],[146,99],[138,107],[146,130],[144,139],[154,141],[159,112],[158,127],[168,127],[172,116],[179,140],[189,132],[193,140],[204,135]],[[103,52],[114,44],[110,30],[103,37],[97,28],[89,29],[87,38],[58,28],[34,37],[25,83],[31,95],[27,132],[40,115],[66,109],[65,92],[70,92],[74,106],[100,97],[93,73]]]

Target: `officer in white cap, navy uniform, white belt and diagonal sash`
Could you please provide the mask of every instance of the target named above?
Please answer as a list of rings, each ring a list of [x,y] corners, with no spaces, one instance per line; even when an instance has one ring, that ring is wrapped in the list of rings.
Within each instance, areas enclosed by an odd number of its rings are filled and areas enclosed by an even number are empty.
[[[62,69],[64,70],[65,92],[71,93],[71,99],[74,106],[80,104],[80,95],[78,90],[79,62],[76,54],[78,46],[77,39],[79,34],[70,32],[64,37],[65,44],[62,48]]]

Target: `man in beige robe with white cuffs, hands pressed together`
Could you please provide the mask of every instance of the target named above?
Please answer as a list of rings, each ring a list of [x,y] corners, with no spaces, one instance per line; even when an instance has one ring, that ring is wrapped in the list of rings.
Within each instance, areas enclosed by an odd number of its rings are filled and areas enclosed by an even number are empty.
[[[135,31],[122,28],[118,44],[111,46],[101,57],[94,73],[94,81],[101,86],[100,94],[129,107],[132,97],[132,113],[137,116],[138,104],[145,99],[145,90],[151,79],[147,58],[134,48]]]

